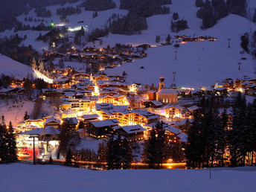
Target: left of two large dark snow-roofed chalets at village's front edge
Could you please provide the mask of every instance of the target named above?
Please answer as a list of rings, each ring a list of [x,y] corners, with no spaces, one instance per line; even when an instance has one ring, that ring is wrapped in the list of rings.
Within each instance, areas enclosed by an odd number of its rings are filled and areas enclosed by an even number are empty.
[[[86,127],[89,136],[97,139],[108,138],[115,129],[118,129],[119,121],[109,119],[104,121],[92,121]]]

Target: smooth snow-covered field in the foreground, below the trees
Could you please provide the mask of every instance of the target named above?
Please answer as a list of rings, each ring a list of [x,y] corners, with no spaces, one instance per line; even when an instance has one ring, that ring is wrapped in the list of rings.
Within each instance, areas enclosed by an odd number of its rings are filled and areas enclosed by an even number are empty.
[[[255,191],[255,167],[209,170],[86,170],[0,164],[1,191]]]

